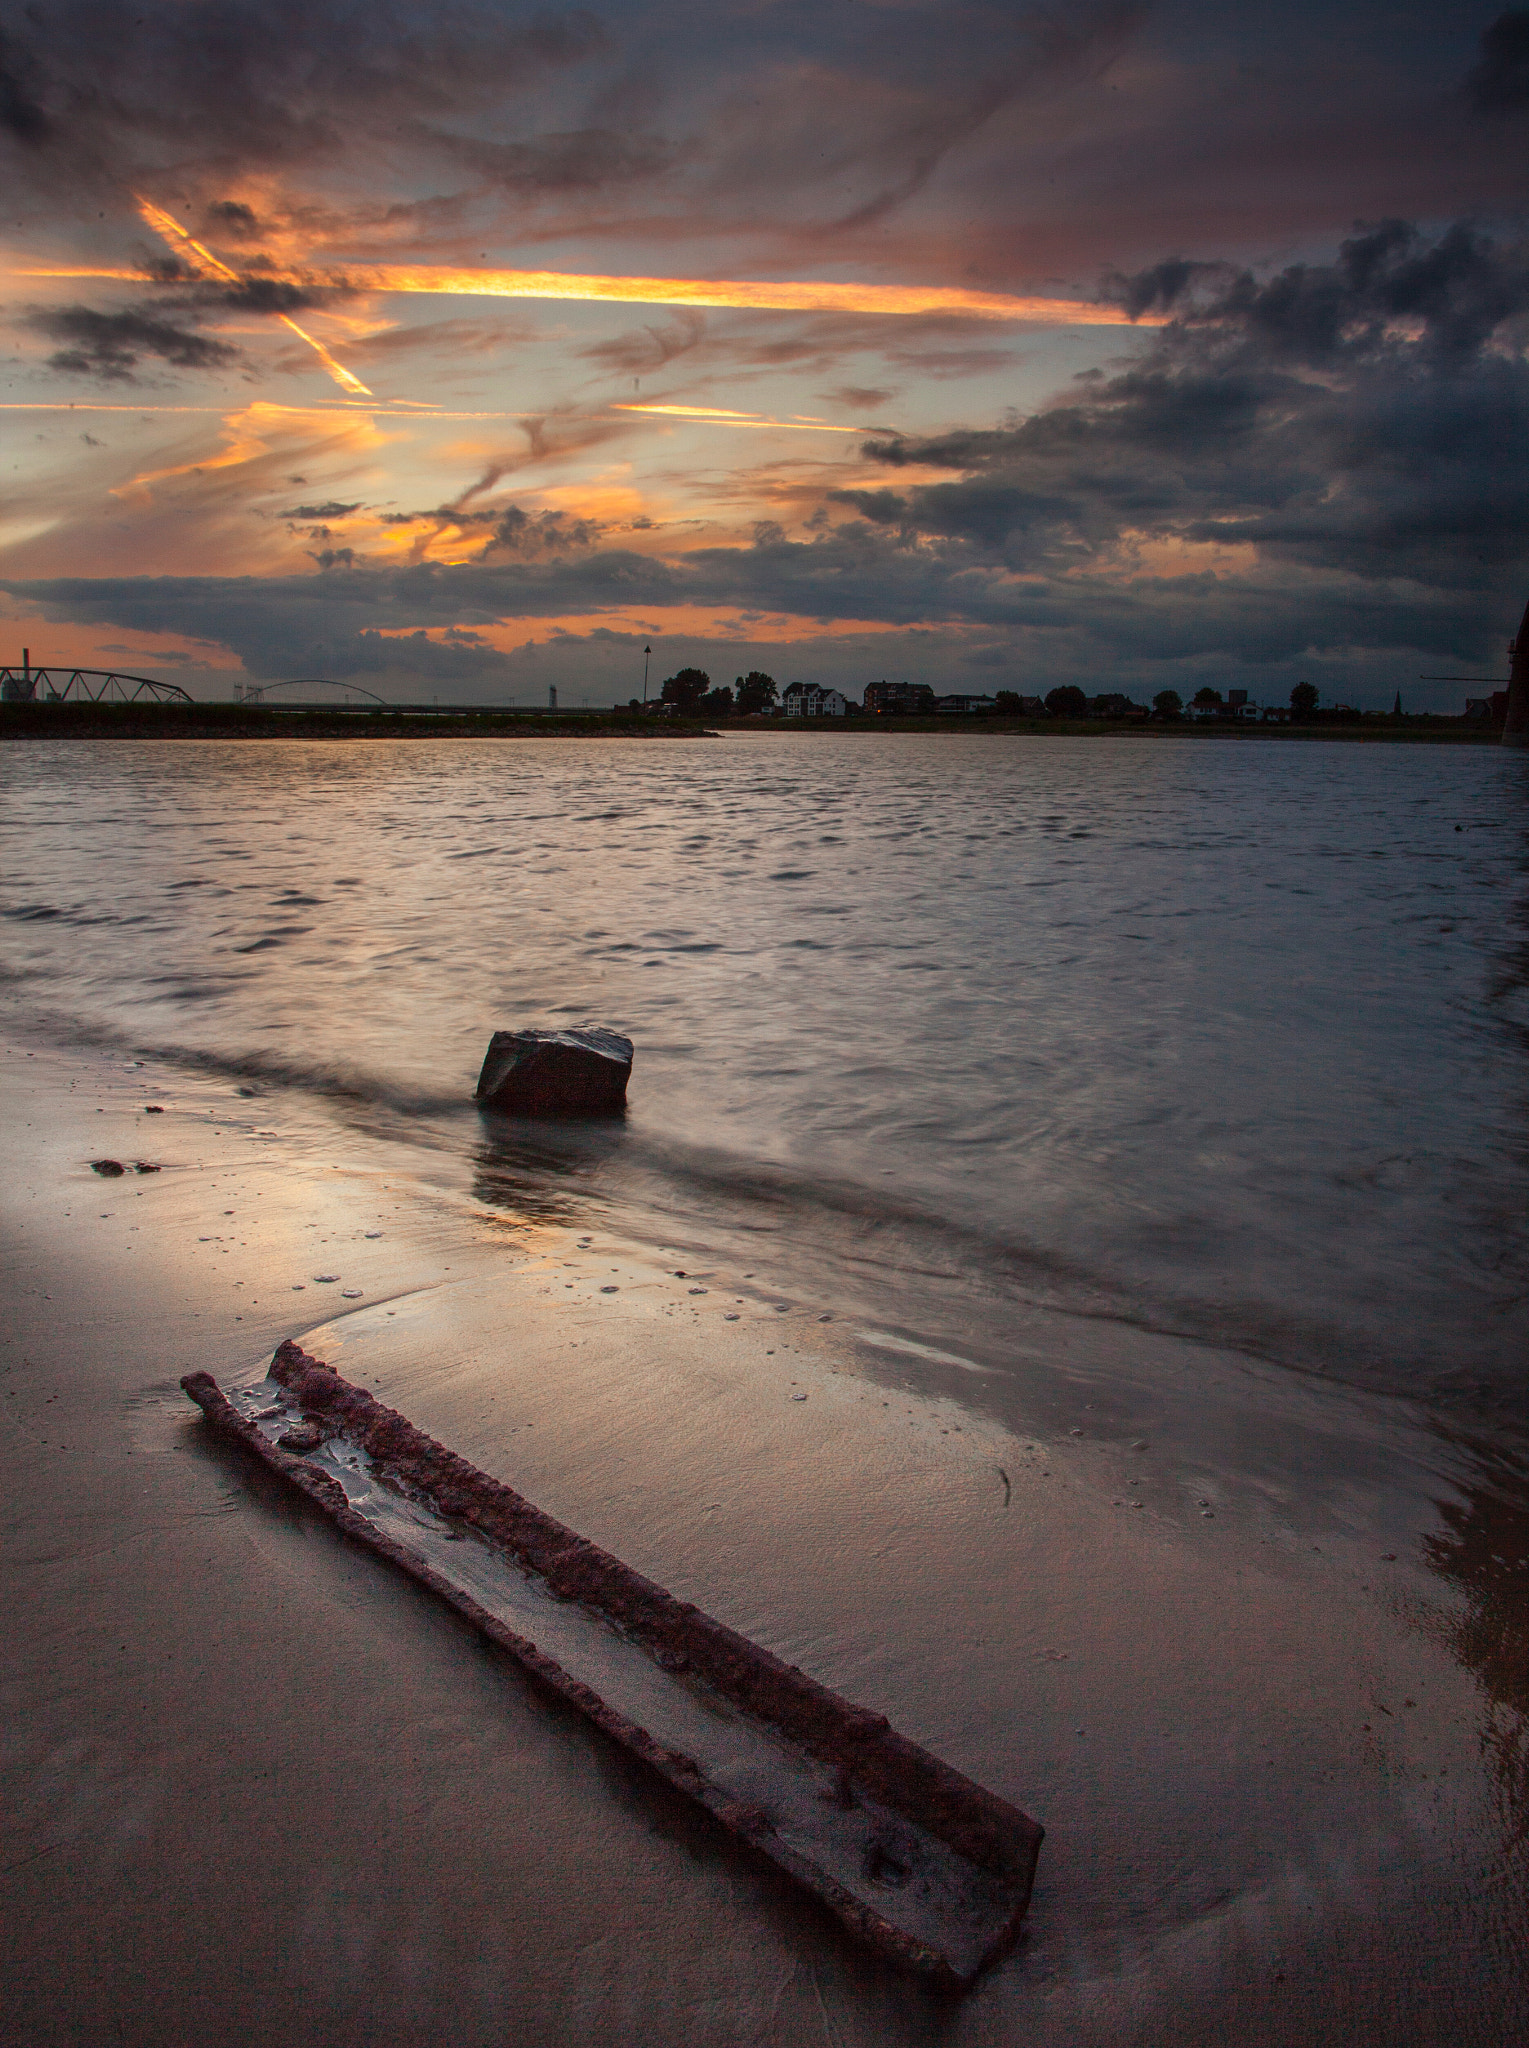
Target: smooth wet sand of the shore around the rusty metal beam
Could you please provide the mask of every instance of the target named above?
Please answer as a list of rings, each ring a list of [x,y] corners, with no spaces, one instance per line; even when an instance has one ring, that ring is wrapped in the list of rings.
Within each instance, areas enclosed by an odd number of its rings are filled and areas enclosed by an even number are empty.
[[[1208,1354],[1146,1436],[1081,1378],[1025,1415],[225,1079],[20,1044],[4,1079],[14,2038],[1523,2036],[1521,1622],[1441,1569],[1421,1415]],[[287,1335],[1034,1812],[1015,1956],[962,2003],[892,1976],[219,1450],[178,1376]],[[1461,1559],[1515,1540],[1494,1485]]]

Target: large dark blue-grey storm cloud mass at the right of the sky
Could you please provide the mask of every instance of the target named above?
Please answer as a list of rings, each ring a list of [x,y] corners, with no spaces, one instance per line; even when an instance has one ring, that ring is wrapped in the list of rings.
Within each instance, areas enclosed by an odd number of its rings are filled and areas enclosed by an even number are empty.
[[[1195,293],[1210,281],[1204,297]],[[1181,305],[1148,354],[1001,428],[866,446],[958,481],[841,492],[866,520],[1038,569],[1134,541],[1423,588],[1529,559],[1529,252],[1404,223],[1273,279],[1159,266],[1124,303]]]

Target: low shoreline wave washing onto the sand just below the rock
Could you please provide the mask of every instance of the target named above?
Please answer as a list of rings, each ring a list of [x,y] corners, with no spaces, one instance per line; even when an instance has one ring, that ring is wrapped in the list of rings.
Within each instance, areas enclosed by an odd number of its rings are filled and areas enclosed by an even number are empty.
[[[321,1100],[358,1137],[454,1157],[469,1167],[477,1202],[526,1221],[602,1212],[649,1245],[770,1266],[782,1290],[854,1300],[856,1313],[872,1319],[884,1321],[888,1300],[903,1303],[911,1331],[925,1331],[935,1317],[960,1331],[968,1364],[991,1370],[1005,1370],[1015,1356],[1007,1317],[1042,1311],[1451,1409],[1496,1409],[1521,1384],[1521,1366],[1506,1350],[1496,1358],[1478,1346],[1468,1368],[1404,1358],[1394,1319],[1365,1331],[1353,1315],[1333,1321],[1312,1307],[1247,1292],[1199,1296],[1161,1274],[1111,1270],[1103,1257],[1081,1260],[1011,1227],[960,1217],[931,1190],[888,1194],[847,1174],[675,1139],[641,1118],[563,1124],[481,1116],[467,1085],[420,1087],[358,1063],[145,1042],[108,1024],[37,1012],[29,1026],[51,1042]]]

